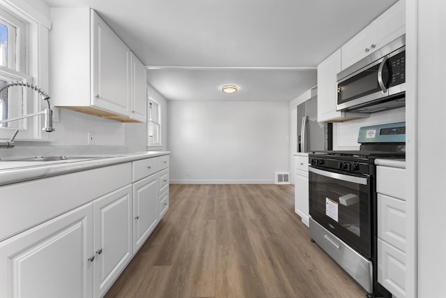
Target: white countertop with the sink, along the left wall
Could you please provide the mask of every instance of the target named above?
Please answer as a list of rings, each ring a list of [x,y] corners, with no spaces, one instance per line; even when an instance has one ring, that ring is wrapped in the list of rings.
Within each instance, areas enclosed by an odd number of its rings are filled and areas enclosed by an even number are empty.
[[[169,155],[169,151],[141,151],[131,154],[76,156],[63,161],[0,161],[0,185],[107,167],[140,159]],[[96,158],[96,157],[100,158]]]

